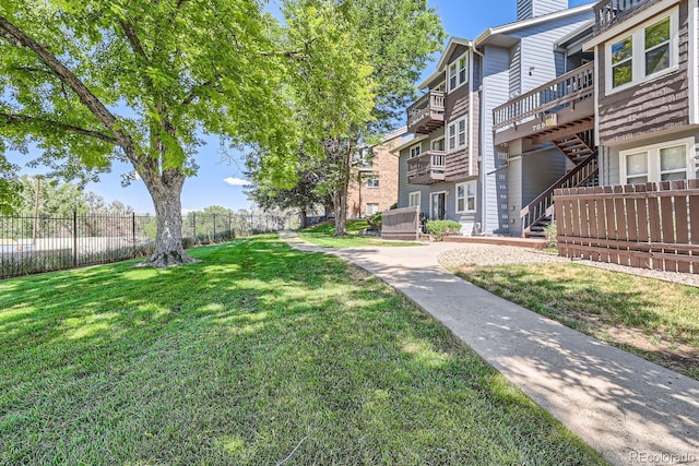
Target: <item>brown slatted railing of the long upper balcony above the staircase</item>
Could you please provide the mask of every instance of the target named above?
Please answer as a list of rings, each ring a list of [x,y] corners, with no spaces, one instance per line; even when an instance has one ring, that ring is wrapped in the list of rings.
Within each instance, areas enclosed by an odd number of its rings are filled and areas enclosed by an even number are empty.
[[[493,110],[495,132],[521,124],[558,107],[569,107],[578,101],[594,98],[594,63],[579,67],[555,80],[509,100]],[[545,123],[544,124],[545,128]]]

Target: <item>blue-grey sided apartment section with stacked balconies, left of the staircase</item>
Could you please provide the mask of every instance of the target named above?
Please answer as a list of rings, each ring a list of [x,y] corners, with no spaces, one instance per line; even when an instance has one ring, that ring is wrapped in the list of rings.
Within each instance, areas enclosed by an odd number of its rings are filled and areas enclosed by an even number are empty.
[[[437,71],[419,84],[424,95],[407,109],[407,130],[416,138],[396,148],[399,206],[417,205],[430,219],[454,219],[463,235],[520,235],[524,206],[585,158],[569,148],[571,138],[560,140],[567,144],[531,141],[518,131],[541,127],[528,124],[535,116],[512,120],[526,109],[502,107],[524,103],[521,97],[587,61],[590,53],[574,51],[573,36],[590,24],[592,5],[518,0],[517,11],[514,23],[449,41]],[[569,50],[556,46],[564,39]],[[593,117],[587,121],[591,130]],[[573,135],[589,147],[585,129]]]

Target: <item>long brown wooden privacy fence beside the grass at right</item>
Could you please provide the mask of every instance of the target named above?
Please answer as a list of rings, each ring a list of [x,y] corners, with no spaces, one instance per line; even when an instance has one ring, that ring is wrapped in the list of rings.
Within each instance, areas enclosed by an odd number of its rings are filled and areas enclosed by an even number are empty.
[[[699,180],[556,190],[558,252],[699,274]]]

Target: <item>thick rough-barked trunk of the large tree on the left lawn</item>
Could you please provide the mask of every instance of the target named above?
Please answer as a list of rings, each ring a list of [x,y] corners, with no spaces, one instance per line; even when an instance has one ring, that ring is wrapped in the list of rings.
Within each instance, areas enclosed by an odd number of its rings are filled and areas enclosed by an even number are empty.
[[[157,232],[155,251],[140,266],[168,267],[199,262],[182,248],[182,206],[180,195],[185,183],[183,176],[158,177],[145,184],[153,198]]]

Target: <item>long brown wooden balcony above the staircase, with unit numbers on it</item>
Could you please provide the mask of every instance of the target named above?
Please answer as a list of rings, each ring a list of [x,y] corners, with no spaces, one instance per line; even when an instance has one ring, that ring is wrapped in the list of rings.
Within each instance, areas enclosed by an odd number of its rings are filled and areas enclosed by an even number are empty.
[[[594,63],[509,100],[493,110],[496,145],[522,138],[534,144],[594,127]]]

